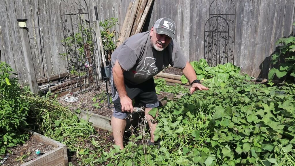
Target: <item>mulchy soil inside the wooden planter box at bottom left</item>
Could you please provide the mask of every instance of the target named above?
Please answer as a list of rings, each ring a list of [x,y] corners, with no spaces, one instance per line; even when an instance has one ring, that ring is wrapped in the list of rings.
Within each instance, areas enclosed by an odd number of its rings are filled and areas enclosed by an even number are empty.
[[[49,144],[45,144],[44,142],[40,142],[34,137],[31,137],[28,141],[26,141],[25,144],[10,148],[9,150],[12,151],[12,154],[9,154],[9,157],[2,164],[2,166],[18,166],[30,160],[36,159],[37,157],[39,157],[35,153],[36,149],[39,149],[41,151],[41,154],[45,154],[55,149],[55,147]],[[3,158],[5,156],[6,155],[3,155],[1,157]]]

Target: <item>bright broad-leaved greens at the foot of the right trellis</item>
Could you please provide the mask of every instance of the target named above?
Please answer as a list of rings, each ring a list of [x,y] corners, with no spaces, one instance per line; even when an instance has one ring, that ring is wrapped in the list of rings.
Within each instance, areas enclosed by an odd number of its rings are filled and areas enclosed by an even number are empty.
[[[232,63],[219,64],[215,67],[210,67],[205,59],[200,59],[200,61],[190,62],[193,66],[197,78],[199,80],[204,80],[209,83],[209,87],[224,87],[225,83],[230,78],[240,78],[240,67],[233,65]],[[181,83],[186,84],[188,80],[184,75],[181,77]]]

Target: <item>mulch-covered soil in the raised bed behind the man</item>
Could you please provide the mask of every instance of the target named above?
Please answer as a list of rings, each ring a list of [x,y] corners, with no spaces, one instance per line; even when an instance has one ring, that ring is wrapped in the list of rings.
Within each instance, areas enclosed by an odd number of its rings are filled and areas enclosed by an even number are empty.
[[[111,89],[108,84],[108,91],[109,96],[111,97]],[[158,100],[164,98],[167,96],[168,93],[160,92],[160,94],[157,94]],[[72,94],[68,94],[62,97],[58,97],[58,101],[66,107],[69,107],[71,109],[77,109],[80,108],[81,110],[88,110],[91,113],[96,113],[98,115],[103,115],[107,117],[112,117],[113,111],[114,111],[114,104],[111,102],[110,105],[108,105],[107,97],[106,97],[106,84],[101,83],[100,87],[97,89],[94,89],[92,91],[86,92],[86,93],[80,93],[75,95],[75,97],[78,97],[78,101],[76,102],[67,102],[65,101],[65,97],[70,97]],[[96,97],[96,102],[94,102],[94,98]],[[101,102],[100,102],[101,100]]]

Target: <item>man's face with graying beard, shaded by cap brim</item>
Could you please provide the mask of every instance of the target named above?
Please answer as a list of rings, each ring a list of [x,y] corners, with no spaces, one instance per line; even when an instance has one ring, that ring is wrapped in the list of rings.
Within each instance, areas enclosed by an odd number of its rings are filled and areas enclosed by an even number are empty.
[[[150,30],[150,42],[155,50],[163,51],[169,45],[170,41],[171,38],[169,36],[156,33],[154,27]]]

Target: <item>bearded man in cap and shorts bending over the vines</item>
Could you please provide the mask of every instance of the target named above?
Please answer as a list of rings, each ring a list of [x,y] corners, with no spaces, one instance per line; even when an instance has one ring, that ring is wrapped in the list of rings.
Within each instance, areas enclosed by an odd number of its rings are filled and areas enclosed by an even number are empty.
[[[166,66],[180,68],[191,83],[190,92],[208,90],[197,80],[196,73],[185,60],[181,48],[174,39],[175,23],[161,18],[148,32],[128,38],[111,56],[111,87],[114,113],[111,124],[114,141],[123,149],[125,118],[133,111],[132,99],[145,106],[145,117],[150,126],[150,142],[154,142],[157,122],[148,112],[159,106],[153,76]]]

